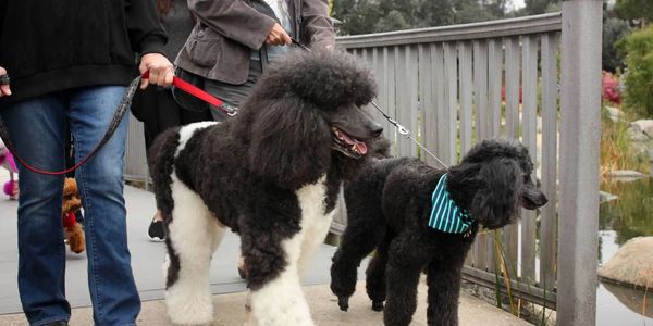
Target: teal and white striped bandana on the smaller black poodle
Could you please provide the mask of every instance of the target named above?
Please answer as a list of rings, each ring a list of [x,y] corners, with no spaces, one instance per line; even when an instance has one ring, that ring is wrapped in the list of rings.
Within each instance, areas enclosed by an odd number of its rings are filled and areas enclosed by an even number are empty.
[[[456,205],[446,190],[446,174],[443,174],[433,196],[431,197],[433,209],[429,218],[429,226],[447,234],[465,234],[471,226],[471,218],[467,211]]]

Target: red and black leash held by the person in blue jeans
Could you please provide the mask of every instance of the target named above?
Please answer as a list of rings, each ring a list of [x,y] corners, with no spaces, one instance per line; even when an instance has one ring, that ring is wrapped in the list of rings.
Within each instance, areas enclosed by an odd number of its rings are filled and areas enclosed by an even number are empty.
[[[109,124],[109,127],[107,128],[107,133],[104,133],[104,137],[102,137],[100,142],[88,153],[88,155],[86,155],[86,158],[84,158],[82,161],[79,161],[79,163],[75,164],[75,166],[72,166],[72,167],[69,167],[69,168],[62,170],[62,171],[45,171],[45,170],[39,170],[39,168],[36,168],[36,167],[27,164],[25,161],[23,161],[23,159],[21,159],[21,156],[17,155],[16,150],[9,138],[9,133],[7,130],[7,127],[4,126],[4,123],[2,122],[2,118],[0,118],[0,138],[2,138],[2,140],[4,141],[4,146],[12,153],[14,159],[17,160],[19,162],[21,162],[21,164],[23,166],[25,166],[25,168],[27,168],[34,173],[46,174],[46,175],[62,175],[62,174],[67,174],[70,172],[73,172],[73,171],[77,170],[79,166],[82,166],[84,163],[86,163],[88,160],[90,160],[90,158],[93,158],[109,141],[109,139],[111,138],[111,136],[113,135],[113,133],[115,131],[118,126],[120,125],[120,122],[122,121],[122,117],[124,116],[125,112],[128,111],[127,109],[132,104],[132,99],[134,98],[134,93],[136,92],[136,89],[138,88],[138,85],[140,84],[140,79],[148,78],[148,77],[149,77],[149,72],[145,72],[143,74],[143,76],[138,76],[138,77],[134,78],[134,80],[132,80],[132,83],[130,84],[130,87],[127,87],[127,91],[123,96],[123,99],[122,99],[120,105],[118,106],[118,110],[115,110],[115,113],[113,114],[113,118],[111,121],[111,124]],[[218,108],[219,110],[226,113],[226,115],[229,115],[229,116],[234,116],[238,113],[236,108],[225,104],[223,101],[215,98],[214,96],[204,91],[202,89],[195,87],[193,84],[189,84],[189,83],[185,82],[184,79],[178,78],[177,76],[174,76],[172,84],[175,87],[177,87],[178,89],[181,89],[196,98],[199,98],[200,100]]]

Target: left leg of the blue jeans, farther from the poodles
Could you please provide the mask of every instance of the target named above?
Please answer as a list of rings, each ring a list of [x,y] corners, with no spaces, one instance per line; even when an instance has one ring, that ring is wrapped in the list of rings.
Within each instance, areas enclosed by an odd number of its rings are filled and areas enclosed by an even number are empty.
[[[41,170],[64,167],[65,97],[24,100],[0,110],[19,156]],[[65,247],[61,223],[63,176],[19,164],[19,292],[30,325],[67,321]]]

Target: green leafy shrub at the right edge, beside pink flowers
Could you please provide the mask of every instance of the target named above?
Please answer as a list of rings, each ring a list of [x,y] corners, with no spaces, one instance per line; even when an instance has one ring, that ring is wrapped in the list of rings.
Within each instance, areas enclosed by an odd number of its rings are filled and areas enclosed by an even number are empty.
[[[618,48],[626,54],[624,104],[653,116],[653,25],[621,39]]]

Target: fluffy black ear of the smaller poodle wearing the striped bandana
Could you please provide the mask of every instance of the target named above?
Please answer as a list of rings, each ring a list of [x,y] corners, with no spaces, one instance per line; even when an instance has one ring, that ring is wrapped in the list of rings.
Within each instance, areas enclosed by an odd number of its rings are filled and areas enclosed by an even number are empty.
[[[523,178],[515,160],[497,158],[482,164],[471,215],[484,227],[495,229],[516,221],[520,210],[520,189]]]

